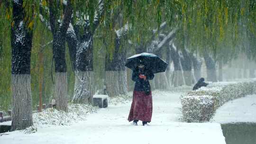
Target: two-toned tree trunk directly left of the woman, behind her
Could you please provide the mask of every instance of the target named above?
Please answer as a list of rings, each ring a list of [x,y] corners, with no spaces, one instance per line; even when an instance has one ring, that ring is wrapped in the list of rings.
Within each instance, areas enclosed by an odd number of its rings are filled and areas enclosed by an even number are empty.
[[[128,93],[125,61],[126,50],[120,47],[120,38],[116,37],[113,57],[106,53],[105,61],[105,84],[110,97]]]

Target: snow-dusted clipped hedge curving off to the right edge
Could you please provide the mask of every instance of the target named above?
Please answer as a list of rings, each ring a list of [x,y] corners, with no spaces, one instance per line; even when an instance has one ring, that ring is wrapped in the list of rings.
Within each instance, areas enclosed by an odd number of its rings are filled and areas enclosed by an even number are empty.
[[[209,87],[188,91],[181,96],[183,120],[186,122],[210,121],[216,109],[225,102],[256,93],[256,81],[212,83]]]

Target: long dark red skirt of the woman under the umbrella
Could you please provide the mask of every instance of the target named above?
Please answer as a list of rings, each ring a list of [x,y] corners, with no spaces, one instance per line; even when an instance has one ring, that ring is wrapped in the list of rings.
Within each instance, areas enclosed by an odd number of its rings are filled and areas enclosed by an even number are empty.
[[[144,91],[133,91],[133,99],[128,121],[141,120],[151,122],[152,117],[152,93],[146,95]]]

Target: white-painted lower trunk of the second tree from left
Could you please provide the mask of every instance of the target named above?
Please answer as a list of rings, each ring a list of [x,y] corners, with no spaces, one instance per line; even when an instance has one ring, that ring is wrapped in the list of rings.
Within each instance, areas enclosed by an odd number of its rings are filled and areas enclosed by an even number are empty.
[[[55,73],[55,99],[56,109],[68,111],[68,96],[67,96],[67,73]]]

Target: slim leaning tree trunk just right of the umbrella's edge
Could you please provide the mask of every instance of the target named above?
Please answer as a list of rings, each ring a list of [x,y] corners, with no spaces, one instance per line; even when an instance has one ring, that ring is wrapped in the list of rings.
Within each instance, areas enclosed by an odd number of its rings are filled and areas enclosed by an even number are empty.
[[[181,66],[180,55],[178,53],[178,50],[174,45],[174,43],[170,43],[169,48],[171,52],[171,58],[174,62],[174,73],[171,79],[172,84],[174,85],[174,87],[184,85],[182,66]]]

